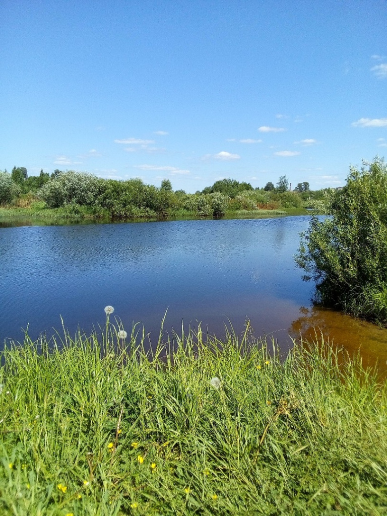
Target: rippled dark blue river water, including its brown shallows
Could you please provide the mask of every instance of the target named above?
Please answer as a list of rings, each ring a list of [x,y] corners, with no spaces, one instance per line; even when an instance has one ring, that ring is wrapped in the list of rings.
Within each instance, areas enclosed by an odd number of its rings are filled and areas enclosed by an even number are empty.
[[[256,336],[286,350],[322,332],[366,365],[386,368],[387,330],[313,307],[293,255],[309,217],[0,228],[0,342],[61,328],[90,332],[115,308],[127,331],[141,322],[157,341],[199,322],[221,337],[250,319]],[[113,318],[112,318],[113,320]],[[54,330],[55,329],[55,330]]]

